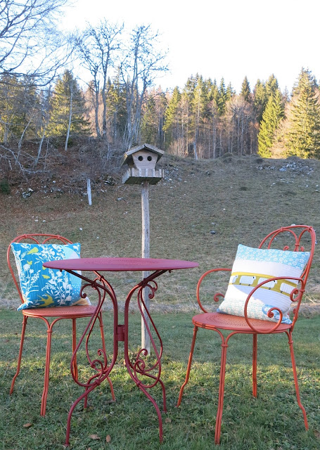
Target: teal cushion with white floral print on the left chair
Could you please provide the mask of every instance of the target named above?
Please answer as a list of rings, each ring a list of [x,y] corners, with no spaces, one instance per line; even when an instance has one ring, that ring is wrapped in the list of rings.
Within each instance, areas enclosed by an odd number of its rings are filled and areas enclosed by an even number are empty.
[[[56,259],[80,257],[80,244],[12,243],[25,303],[20,309],[69,306],[79,301],[81,279],[42,264]]]

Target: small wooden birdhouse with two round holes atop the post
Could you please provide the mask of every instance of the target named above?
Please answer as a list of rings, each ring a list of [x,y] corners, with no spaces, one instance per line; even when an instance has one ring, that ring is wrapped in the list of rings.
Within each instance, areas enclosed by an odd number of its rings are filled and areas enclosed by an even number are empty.
[[[149,184],[157,184],[164,176],[163,169],[155,169],[155,165],[162,157],[163,150],[144,143],[133,147],[124,153],[121,165],[127,164],[129,168],[122,176],[124,184],[141,184],[148,181]]]

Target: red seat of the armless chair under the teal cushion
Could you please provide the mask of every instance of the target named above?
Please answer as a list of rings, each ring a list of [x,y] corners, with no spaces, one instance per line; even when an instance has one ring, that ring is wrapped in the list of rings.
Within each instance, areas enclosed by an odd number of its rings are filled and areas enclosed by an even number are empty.
[[[88,317],[94,314],[96,306],[94,304],[74,307],[49,307],[22,309],[23,315],[28,317],[65,317],[77,318]]]

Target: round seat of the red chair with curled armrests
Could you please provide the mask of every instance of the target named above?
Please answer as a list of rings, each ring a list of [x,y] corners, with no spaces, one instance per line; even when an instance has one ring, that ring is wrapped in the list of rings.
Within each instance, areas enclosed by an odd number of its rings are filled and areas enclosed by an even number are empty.
[[[276,325],[276,322],[261,321],[258,319],[249,319],[252,326],[259,328],[262,332],[271,330]],[[252,328],[248,326],[244,317],[231,316],[230,314],[221,314],[219,312],[206,312],[204,314],[198,314],[192,318],[193,324],[199,328],[205,328],[207,330],[215,330],[220,328],[222,330],[234,330],[242,331],[243,333],[254,333]],[[276,329],[275,333],[281,333],[284,330],[290,329],[291,325],[287,323],[281,323]]]

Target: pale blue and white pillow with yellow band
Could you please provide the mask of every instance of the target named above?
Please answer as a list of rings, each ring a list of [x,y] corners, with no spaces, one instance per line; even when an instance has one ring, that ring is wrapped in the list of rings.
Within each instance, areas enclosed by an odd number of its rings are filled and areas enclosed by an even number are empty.
[[[229,286],[224,301],[217,311],[244,317],[245,300],[257,284],[277,276],[299,278],[309,256],[309,252],[250,248],[239,244]],[[278,311],[272,311],[274,313],[272,318],[269,318],[267,313],[272,307],[278,307],[283,313],[282,323],[292,323],[288,311],[291,304],[290,293],[296,286],[297,281],[285,279],[265,283],[250,297],[248,317],[277,322],[279,321]]]

